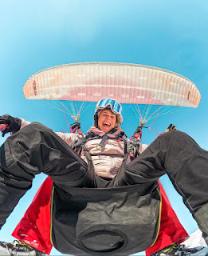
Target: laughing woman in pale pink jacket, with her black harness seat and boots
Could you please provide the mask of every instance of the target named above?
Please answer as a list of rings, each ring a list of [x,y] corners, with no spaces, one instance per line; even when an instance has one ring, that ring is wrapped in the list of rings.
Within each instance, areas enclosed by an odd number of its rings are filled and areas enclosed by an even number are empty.
[[[167,173],[208,242],[206,150],[172,130],[151,146],[139,143],[134,148],[139,156],[132,160],[132,145],[120,128],[120,103],[104,98],[96,106],[94,120],[94,126],[78,139],[76,134],[54,133],[22,118],[0,117],[0,123],[8,124],[3,133],[14,133],[1,147],[1,226],[34,176],[43,172],[53,180],[51,238],[57,250],[73,255],[147,250],[159,233],[158,179]],[[163,246],[168,248],[153,253],[208,254],[207,247]],[[7,255],[23,254],[23,250],[25,255],[41,255],[26,248],[21,242],[2,242],[0,249]]]

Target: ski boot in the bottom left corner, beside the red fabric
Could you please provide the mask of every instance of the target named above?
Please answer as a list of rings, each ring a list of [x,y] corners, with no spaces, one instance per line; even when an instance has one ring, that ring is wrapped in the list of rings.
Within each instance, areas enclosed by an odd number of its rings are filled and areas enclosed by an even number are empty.
[[[14,242],[0,242],[0,256],[44,256],[40,250],[27,245],[25,242],[14,240]]]

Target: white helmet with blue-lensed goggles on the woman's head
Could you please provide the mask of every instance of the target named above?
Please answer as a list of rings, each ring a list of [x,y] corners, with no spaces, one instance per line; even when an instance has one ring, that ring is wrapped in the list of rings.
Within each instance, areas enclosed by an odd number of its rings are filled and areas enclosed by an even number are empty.
[[[121,115],[122,106],[119,102],[112,98],[103,98],[96,104],[96,110],[94,114],[94,126],[98,126],[98,113],[100,110],[111,110],[112,113],[116,114],[116,127],[118,128],[121,126],[123,121],[123,117]]]

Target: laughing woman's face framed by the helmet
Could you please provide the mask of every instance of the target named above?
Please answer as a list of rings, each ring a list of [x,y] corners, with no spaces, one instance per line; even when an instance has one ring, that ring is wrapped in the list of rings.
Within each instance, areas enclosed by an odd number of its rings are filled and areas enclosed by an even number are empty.
[[[98,118],[98,126],[104,133],[116,126],[116,114],[111,110],[102,110]]]

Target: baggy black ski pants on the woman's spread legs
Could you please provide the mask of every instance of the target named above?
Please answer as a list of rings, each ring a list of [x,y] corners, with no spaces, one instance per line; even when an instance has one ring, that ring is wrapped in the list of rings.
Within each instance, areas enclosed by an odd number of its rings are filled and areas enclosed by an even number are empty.
[[[0,226],[41,172],[56,186],[92,186],[87,164],[52,130],[31,123],[10,136],[0,152]],[[178,130],[157,138],[119,178],[120,186],[171,179],[208,242],[208,152]],[[110,182],[113,186],[113,180]]]

